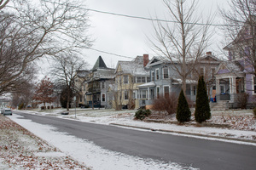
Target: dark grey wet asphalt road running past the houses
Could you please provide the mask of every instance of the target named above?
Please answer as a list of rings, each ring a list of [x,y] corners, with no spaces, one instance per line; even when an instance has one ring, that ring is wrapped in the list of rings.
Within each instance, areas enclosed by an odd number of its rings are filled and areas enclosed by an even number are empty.
[[[256,147],[252,145],[143,132],[52,116],[19,114],[33,122],[57,127],[60,132],[93,141],[104,149],[131,156],[172,161],[186,167],[207,170],[256,169]]]

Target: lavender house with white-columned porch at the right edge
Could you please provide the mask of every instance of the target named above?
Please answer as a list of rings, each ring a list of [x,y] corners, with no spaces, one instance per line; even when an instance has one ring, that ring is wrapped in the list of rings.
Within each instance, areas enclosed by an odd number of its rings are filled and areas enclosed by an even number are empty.
[[[254,106],[256,78],[253,68],[255,66],[255,45],[253,44],[255,42],[255,25],[252,27],[246,22],[235,40],[224,47],[224,50],[229,53],[228,61],[219,65],[215,77],[217,101],[225,102],[226,108],[241,107],[241,103],[244,102],[241,100],[243,94],[248,96],[247,107]]]

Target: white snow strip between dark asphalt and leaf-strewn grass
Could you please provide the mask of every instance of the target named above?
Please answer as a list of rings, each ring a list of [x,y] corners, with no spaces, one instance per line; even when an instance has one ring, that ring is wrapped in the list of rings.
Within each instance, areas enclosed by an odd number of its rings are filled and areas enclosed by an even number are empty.
[[[38,124],[26,119],[19,119],[19,117],[14,115],[11,118],[22,127],[49,142],[49,144],[55,145],[68,156],[72,156],[92,169],[195,169],[192,167],[182,167],[175,162],[166,163],[105,150],[90,141],[78,139],[67,133],[57,132],[55,127]]]

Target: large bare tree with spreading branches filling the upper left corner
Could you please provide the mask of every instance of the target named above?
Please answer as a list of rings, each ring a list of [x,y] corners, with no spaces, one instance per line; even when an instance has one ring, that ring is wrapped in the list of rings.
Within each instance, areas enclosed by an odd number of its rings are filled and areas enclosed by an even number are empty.
[[[0,5],[4,4],[0,1]],[[0,79],[2,91],[6,84],[22,76],[32,61],[63,51],[80,53],[81,48],[90,47],[90,37],[86,34],[88,14],[83,1],[12,4],[0,11],[0,68],[8,77]]]

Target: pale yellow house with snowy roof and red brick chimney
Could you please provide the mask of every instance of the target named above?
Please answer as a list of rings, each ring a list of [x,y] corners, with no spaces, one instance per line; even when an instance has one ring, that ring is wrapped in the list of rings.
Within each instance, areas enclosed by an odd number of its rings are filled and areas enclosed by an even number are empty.
[[[149,80],[149,71],[145,68],[148,64],[148,54],[137,56],[132,61],[119,61],[115,74],[115,82],[112,85],[113,108],[138,108],[138,99],[146,94],[139,93],[137,86]]]

